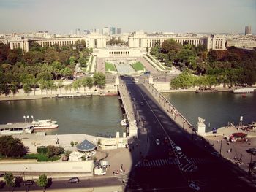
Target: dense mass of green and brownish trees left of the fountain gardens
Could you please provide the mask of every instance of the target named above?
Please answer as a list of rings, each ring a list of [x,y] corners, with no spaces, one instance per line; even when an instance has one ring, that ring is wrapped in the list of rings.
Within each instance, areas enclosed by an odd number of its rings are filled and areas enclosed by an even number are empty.
[[[19,88],[26,93],[38,87],[55,90],[62,79],[72,78],[76,63],[86,66],[91,52],[83,41],[69,47],[32,43],[24,55],[20,49],[0,44],[0,94],[15,94]],[[58,85],[53,80],[59,80]]]

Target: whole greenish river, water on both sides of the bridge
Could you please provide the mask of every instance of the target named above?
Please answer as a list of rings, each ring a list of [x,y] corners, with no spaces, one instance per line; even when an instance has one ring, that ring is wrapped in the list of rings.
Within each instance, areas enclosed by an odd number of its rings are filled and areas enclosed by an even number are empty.
[[[164,96],[192,123],[197,118],[206,119],[207,131],[238,123],[256,120],[256,94],[241,95],[219,93],[164,93]],[[125,131],[120,126],[122,112],[116,96],[93,96],[84,99],[36,99],[23,101],[0,101],[0,123],[21,122],[23,115],[34,119],[53,119],[59,128],[48,134],[92,134],[115,136]],[[210,127],[208,127],[210,123]]]

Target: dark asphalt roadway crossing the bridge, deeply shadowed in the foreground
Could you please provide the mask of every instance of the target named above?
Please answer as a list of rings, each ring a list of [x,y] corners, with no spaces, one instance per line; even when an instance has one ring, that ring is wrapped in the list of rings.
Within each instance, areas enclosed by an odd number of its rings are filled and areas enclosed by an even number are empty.
[[[132,83],[130,77],[122,78],[127,82],[140,125],[139,139],[129,146],[133,166],[126,191],[192,191],[190,182],[200,186],[200,191],[252,190],[245,172],[211,155],[211,146],[198,147],[198,141],[168,117],[142,84]],[[156,144],[157,135],[160,145]],[[173,151],[177,145],[183,153]]]

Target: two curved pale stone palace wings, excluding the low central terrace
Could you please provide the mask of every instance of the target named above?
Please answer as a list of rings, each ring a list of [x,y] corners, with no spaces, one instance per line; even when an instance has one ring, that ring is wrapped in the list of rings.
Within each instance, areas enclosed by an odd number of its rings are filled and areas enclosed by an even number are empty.
[[[129,49],[136,48],[146,50],[146,48],[154,47],[155,45],[162,45],[167,39],[174,39],[176,42],[184,45],[204,45],[208,50],[225,50],[226,39],[220,36],[211,35],[211,37],[196,37],[196,36],[177,36],[174,34],[145,34],[143,32],[136,32],[133,34],[127,34],[125,36],[128,41]],[[20,48],[23,53],[29,51],[29,45],[32,42],[37,42],[42,47],[52,47],[53,45],[69,46],[75,45],[75,42],[84,41],[88,48],[106,48],[106,42],[110,36],[102,34],[91,33],[83,37],[12,37],[9,39],[11,49]],[[136,51],[137,52],[137,51]],[[115,53],[111,53],[114,55]],[[119,54],[119,53],[118,53]],[[126,54],[126,50],[124,50]]]

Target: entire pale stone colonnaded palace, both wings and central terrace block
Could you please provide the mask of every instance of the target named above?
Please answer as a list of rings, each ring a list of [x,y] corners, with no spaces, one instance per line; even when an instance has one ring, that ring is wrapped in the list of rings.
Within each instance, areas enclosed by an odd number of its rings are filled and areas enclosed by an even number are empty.
[[[224,37],[211,35],[209,37],[197,37],[177,34],[146,34],[142,31],[134,32],[128,35],[128,46],[107,46],[109,36],[91,33],[84,37],[12,37],[8,40],[11,49],[20,48],[23,53],[29,51],[29,45],[37,42],[42,47],[52,47],[53,45],[69,46],[75,45],[75,42],[83,40],[86,47],[94,49],[94,55],[98,57],[138,57],[146,53],[146,48],[162,45],[167,39],[174,39],[176,42],[184,45],[204,45],[208,50],[225,50],[226,40]]]

